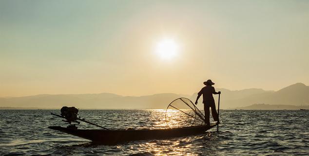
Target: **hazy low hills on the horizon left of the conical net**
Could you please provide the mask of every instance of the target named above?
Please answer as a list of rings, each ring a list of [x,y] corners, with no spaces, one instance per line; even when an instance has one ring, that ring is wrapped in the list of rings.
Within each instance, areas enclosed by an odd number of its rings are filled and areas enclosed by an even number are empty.
[[[77,94],[77,95],[36,95],[19,98],[0,98],[0,107],[34,107],[94,109],[164,109],[176,98],[184,95],[172,93],[155,94],[141,97],[124,97],[116,94]]]

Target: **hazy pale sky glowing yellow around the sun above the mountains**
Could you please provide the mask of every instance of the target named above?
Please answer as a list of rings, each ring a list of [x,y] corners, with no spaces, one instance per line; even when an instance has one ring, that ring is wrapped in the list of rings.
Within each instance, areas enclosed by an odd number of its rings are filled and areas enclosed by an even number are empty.
[[[0,97],[192,94],[207,79],[309,85],[309,1],[0,0]]]

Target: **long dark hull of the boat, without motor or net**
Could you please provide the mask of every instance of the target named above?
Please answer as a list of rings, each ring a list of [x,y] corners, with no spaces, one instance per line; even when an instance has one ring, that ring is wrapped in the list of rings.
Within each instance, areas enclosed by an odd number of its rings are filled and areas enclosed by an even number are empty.
[[[86,130],[86,129],[71,129],[60,126],[50,126],[48,128],[61,131],[73,136],[82,137],[92,140],[93,142],[103,144],[116,144],[120,142],[148,139],[163,139],[169,137],[183,137],[203,133],[217,124],[212,124],[210,127],[193,126],[171,129],[152,129],[152,130]]]

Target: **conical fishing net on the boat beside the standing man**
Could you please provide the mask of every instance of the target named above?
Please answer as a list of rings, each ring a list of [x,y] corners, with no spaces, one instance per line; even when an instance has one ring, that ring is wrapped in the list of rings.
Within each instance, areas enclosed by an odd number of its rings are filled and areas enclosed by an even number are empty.
[[[203,113],[188,98],[177,98],[169,104],[165,112],[169,128],[205,125]]]

